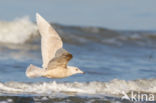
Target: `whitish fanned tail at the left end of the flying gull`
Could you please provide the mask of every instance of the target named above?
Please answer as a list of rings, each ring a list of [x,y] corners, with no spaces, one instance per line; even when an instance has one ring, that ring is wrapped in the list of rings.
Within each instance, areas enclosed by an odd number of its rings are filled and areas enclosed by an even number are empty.
[[[30,64],[26,70],[26,76],[29,78],[41,77],[43,73],[44,69],[34,66],[32,64]]]

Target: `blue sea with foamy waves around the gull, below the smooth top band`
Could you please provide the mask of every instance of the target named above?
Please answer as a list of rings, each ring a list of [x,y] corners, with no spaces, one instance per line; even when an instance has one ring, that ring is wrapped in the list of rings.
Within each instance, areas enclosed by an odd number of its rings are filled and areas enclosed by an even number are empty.
[[[85,74],[27,78],[29,64],[42,66],[36,23],[0,21],[0,103],[155,103],[155,31],[51,24]]]

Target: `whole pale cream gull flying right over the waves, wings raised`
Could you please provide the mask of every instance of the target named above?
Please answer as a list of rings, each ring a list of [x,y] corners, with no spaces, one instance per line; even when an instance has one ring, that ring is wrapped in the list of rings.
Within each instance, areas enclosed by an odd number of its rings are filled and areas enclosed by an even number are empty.
[[[65,78],[77,73],[84,73],[78,67],[68,66],[72,54],[63,49],[63,42],[55,29],[38,13],[37,27],[41,34],[42,68],[30,64],[26,70],[29,78]]]

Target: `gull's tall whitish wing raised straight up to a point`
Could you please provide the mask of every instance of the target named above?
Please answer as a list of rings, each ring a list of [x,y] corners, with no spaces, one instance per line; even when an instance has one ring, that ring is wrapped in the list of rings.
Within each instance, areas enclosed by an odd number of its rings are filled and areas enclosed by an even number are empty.
[[[63,43],[59,34],[38,13],[36,13],[36,21],[41,34],[42,67],[45,69],[49,61],[55,57],[56,51],[62,48]]]

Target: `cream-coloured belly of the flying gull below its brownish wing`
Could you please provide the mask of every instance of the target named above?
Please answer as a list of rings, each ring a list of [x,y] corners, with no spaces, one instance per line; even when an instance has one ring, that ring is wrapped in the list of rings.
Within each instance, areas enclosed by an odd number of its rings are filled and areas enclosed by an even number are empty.
[[[47,70],[43,77],[47,77],[47,78],[65,78],[65,77],[67,77],[67,75],[66,75],[65,71],[52,69],[52,70]]]

